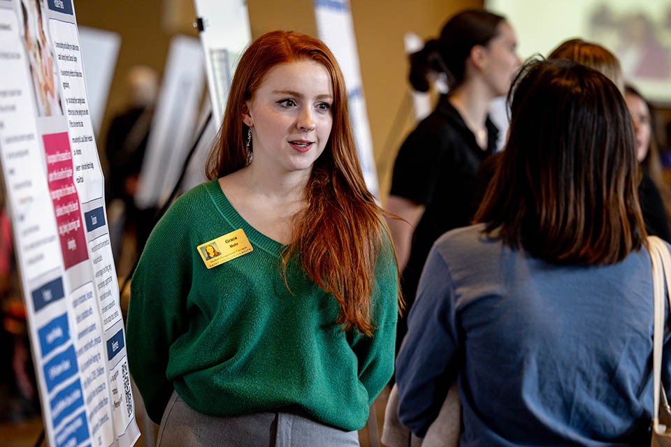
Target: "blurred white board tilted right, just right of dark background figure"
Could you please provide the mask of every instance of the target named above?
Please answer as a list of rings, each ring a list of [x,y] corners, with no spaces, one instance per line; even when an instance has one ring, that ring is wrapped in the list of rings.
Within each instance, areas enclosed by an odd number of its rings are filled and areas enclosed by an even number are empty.
[[[139,208],[158,207],[177,183],[193,144],[204,84],[198,39],[174,37],[135,196]]]

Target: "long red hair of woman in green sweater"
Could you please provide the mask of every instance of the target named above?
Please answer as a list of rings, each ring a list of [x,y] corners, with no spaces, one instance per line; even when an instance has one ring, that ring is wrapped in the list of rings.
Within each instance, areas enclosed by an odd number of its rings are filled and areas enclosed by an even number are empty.
[[[312,166],[305,191],[307,208],[294,219],[291,243],[282,254],[284,275],[289,259],[298,255],[310,279],[338,301],[338,324],[372,335],[370,296],[386,227],[382,209],[363,182],[349,125],[345,80],[322,41],[293,31],[270,31],[247,48],[233,76],[206,173],[215,179],[247,165],[245,102],[253,98],[270,68],[302,59],[319,62],[331,75],[333,127],[324,152]],[[402,304],[400,289],[398,299]]]

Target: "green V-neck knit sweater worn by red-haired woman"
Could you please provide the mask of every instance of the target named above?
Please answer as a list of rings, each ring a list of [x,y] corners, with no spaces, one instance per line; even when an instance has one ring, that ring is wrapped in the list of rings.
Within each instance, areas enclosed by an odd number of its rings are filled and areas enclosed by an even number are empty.
[[[210,270],[196,246],[243,228],[254,250]],[[338,304],[283,245],[233,209],[217,180],[180,197],[152,232],[131,283],[127,351],[155,422],[174,390],[212,416],[300,408],[359,430],[394,370],[396,264],[388,238],[375,265],[373,337],[335,324]]]

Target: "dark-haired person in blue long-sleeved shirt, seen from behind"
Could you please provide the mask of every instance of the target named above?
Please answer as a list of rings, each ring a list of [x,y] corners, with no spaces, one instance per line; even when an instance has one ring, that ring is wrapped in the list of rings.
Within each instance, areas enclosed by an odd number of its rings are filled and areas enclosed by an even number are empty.
[[[565,60],[529,62],[511,92],[477,223],[442,235],[421,274],[398,417],[424,436],[456,380],[461,446],[649,444],[652,276],[626,103]]]

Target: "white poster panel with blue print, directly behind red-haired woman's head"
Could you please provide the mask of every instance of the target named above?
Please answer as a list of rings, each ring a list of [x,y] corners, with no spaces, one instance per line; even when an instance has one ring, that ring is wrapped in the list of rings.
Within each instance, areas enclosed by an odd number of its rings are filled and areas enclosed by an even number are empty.
[[[377,169],[373,155],[373,137],[368,125],[366,98],[361,87],[361,69],[359,68],[359,51],[356,49],[352,11],[349,0],[315,0],[315,20],[319,38],[329,45],[338,59],[338,64],[345,75],[347,95],[349,96],[349,119],[352,121],[356,152],[363,170],[368,190],[377,198],[380,187],[377,184]]]

